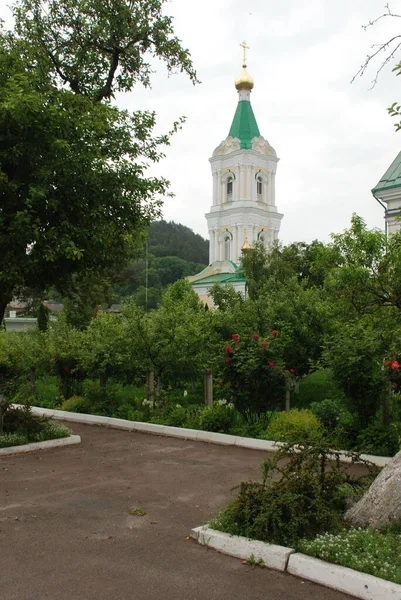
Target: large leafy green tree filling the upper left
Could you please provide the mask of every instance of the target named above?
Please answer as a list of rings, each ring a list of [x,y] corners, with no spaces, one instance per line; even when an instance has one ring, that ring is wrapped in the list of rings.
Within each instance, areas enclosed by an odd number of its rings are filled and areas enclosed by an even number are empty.
[[[163,4],[20,0],[0,31],[0,322],[24,287],[121,267],[158,214],[168,182],[147,163],[180,122],[153,137],[154,113],[112,99],[150,85],[149,54],[197,81]]]

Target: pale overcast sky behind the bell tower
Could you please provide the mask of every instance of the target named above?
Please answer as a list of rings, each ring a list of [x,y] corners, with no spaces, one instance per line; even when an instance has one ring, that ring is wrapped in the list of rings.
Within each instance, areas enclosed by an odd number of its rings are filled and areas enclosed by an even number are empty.
[[[6,15],[0,0],[0,16]],[[401,19],[362,25],[384,12],[385,0],[171,0],[176,34],[188,47],[201,85],[183,75],[167,78],[159,65],[152,89],[119,96],[130,110],[151,109],[158,131],[180,115],[187,122],[157,167],[171,182],[164,218],[207,237],[204,214],[212,201],[208,158],[228,135],[238,101],[234,80],[246,40],[255,80],[252,106],[261,135],[280,162],[276,203],[284,214],[279,237],[327,241],[349,226],[353,212],[383,227],[383,209],[371,195],[401,149],[386,108],[401,100],[401,77],[380,62],[350,83],[372,44],[401,34]],[[390,2],[401,14],[401,0]],[[384,56],[383,56],[384,58]],[[401,52],[398,54],[401,61]]]

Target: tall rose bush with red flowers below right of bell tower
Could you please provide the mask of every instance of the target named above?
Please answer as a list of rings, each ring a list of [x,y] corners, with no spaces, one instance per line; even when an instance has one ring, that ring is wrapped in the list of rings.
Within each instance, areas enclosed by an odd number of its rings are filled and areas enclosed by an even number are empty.
[[[277,331],[267,339],[257,333],[233,334],[222,352],[218,385],[224,396],[247,416],[283,404],[287,373]]]

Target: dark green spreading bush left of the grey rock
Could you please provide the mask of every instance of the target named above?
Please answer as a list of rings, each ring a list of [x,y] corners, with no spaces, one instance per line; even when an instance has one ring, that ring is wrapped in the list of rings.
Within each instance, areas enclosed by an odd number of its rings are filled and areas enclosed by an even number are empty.
[[[329,453],[324,440],[286,446],[262,463],[262,483],[240,484],[211,527],[284,546],[326,530],[337,531],[344,510],[339,487],[346,475],[338,457],[329,463]]]

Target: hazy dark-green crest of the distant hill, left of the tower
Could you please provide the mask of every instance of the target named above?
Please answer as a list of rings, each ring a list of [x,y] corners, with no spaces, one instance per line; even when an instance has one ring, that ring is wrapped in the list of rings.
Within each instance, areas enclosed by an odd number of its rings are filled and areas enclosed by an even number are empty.
[[[155,256],[178,256],[207,265],[209,242],[189,227],[174,221],[156,221],[149,229],[149,252]]]

